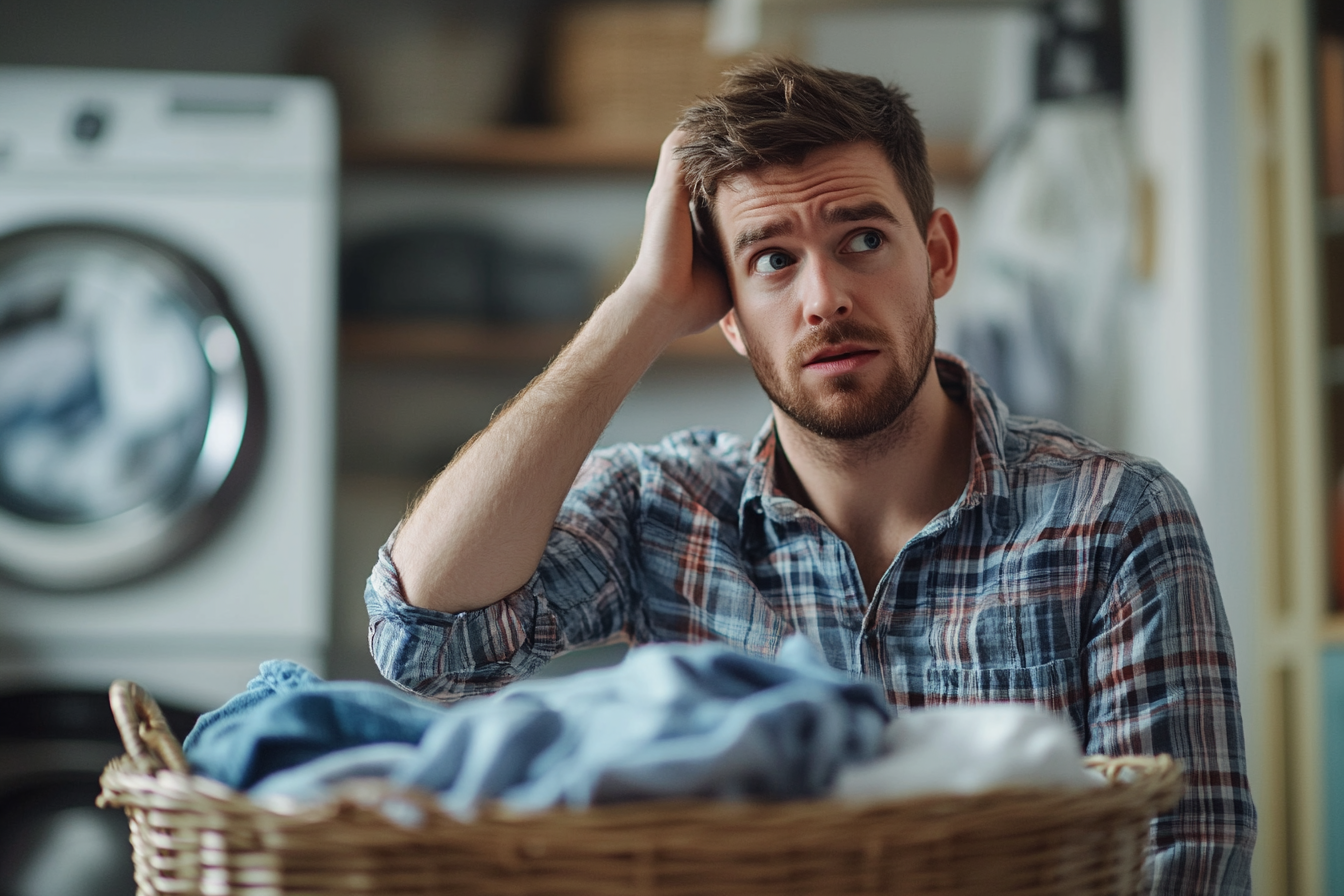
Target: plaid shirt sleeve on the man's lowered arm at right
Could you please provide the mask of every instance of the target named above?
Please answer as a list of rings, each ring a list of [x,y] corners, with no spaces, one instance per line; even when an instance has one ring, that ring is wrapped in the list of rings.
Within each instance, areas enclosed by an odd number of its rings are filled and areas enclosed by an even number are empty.
[[[1255,809],[1231,634],[1185,490],[1149,484],[1089,641],[1089,752],[1171,754],[1185,795],[1153,823],[1153,892],[1249,893]]]

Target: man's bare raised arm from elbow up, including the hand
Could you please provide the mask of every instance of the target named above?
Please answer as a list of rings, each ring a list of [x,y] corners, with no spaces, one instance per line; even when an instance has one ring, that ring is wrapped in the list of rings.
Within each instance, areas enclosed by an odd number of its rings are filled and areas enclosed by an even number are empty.
[[[728,310],[722,274],[696,257],[689,191],[664,142],[625,282],[555,361],[444,469],[402,524],[392,562],[407,602],[462,613],[531,578],[583,458],[667,345]]]

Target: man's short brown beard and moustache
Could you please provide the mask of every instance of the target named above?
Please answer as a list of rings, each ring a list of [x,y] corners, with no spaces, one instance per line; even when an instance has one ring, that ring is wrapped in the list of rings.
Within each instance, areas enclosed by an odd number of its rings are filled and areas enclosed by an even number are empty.
[[[785,379],[780,369],[770,364],[770,359],[753,351],[746,333],[742,334],[742,341],[746,345],[751,369],[755,371],[757,379],[761,382],[761,388],[765,390],[775,407],[821,438],[855,441],[887,430],[910,407],[929,376],[935,336],[937,324],[934,322],[933,286],[930,285],[927,313],[921,321],[919,332],[914,334],[911,345],[914,349],[911,367],[902,364],[902,357],[894,351],[895,345],[886,332],[851,320],[828,321],[794,344],[785,357],[789,379]],[[866,398],[862,394],[863,386],[859,376],[841,373],[829,377],[821,386],[824,390],[821,395],[804,392],[800,383],[800,371],[804,363],[827,345],[839,345],[851,340],[872,345],[894,360],[891,371],[879,384],[878,391]]]

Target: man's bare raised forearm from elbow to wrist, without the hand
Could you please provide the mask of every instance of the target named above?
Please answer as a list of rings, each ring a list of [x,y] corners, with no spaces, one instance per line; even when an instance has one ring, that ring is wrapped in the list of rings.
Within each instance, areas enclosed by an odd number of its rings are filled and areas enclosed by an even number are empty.
[[[673,321],[622,290],[458,453],[405,521],[392,560],[413,604],[476,610],[531,578],[585,457],[675,332]]]

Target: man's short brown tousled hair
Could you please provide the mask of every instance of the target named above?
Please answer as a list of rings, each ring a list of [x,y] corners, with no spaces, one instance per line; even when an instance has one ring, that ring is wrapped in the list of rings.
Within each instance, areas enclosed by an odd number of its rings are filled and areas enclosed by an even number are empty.
[[[734,175],[794,165],[820,146],[871,141],[886,153],[919,235],[927,236],[933,176],[909,99],[900,87],[868,75],[755,58],[727,71],[718,94],[681,113],[687,140],[677,153],[687,185],[712,211],[715,192]]]

